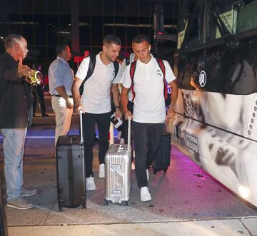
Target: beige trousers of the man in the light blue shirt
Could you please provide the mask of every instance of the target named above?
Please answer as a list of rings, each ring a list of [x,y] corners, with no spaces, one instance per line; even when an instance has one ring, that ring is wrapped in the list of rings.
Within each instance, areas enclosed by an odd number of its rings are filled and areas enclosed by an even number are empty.
[[[73,99],[70,98],[73,103]],[[55,145],[59,136],[66,135],[69,132],[71,125],[71,116],[73,109],[66,108],[66,103],[64,98],[61,97],[51,97],[51,104],[56,116],[56,130],[55,130]]]

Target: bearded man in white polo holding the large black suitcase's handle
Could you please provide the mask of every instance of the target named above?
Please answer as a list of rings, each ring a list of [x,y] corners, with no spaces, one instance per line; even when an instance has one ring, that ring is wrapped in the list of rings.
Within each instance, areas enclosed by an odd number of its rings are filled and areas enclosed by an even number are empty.
[[[76,112],[83,111],[84,153],[86,158],[86,190],[95,190],[92,170],[95,125],[99,128],[99,178],[104,178],[104,157],[109,148],[109,127],[111,120],[110,88],[114,97],[116,117],[119,111],[119,88],[121,70],[115,76],[114,61],[121,51],[121,40],[115,35],[105,36],[103,51],[96,55],[93,74],[84,83],[80,99],[81,86],[89,68],[89,57],[84,58],[76,73],[72,94]]]

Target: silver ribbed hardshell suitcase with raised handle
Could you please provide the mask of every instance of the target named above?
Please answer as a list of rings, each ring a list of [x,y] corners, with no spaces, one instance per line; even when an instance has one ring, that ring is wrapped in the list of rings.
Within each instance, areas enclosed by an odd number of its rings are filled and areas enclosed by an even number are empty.
[[[128,145],[113,144],[106,152],[106,205],[110,202],[128,205],[131,189],[131,120]]]

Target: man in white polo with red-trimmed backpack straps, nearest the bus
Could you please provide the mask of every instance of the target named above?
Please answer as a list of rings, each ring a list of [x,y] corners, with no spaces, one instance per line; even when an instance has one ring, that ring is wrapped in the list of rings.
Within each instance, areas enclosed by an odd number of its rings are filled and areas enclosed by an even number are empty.
[[[148,191],[147,169],[154,160],[158,148],[161,145],[163,123],[166,118],[175,116],[175,104],[178,96],[176,77],[167,61],[165,66],[165,78],[171,86],[171,105],[166,108],[163,94],[163,73],[156,58],[151,53],[151,45],[148,36],[138,35],[133,41],[133,51],[138,60],[133,76],[133,91],[135,92],[133,116],[127,109],[127,93],[131,88],[130,67],[127,66],[122,76],[123,89],[121,91],[121,106],[125,117],[133,118],[133,139],[136,153],[136,180],[138,188],[141,188],[141,201],[151,200]]]

